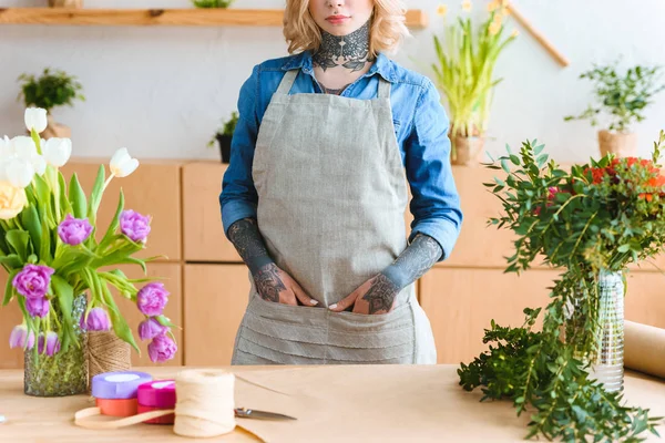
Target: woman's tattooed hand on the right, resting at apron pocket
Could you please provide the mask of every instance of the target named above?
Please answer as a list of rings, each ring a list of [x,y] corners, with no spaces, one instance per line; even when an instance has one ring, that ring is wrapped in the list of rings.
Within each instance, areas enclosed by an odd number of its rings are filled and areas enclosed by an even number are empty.
[[[360,285],[350,296],[341,299],[328,309],[341,312],[354,307],[356,313],[388,313],[395,306],[399,288],[386,275],[379,274]]]

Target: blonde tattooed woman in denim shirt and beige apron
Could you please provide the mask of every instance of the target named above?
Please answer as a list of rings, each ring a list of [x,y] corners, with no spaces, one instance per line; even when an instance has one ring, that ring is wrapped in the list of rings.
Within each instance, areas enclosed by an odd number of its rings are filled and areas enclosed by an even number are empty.
[[[241,90],[219,196],[252,284],[233,364],[437,361],[413,284],[462,213],[439,94],[385,55],[403,20],[399,0],[287,0],[293,55]]]

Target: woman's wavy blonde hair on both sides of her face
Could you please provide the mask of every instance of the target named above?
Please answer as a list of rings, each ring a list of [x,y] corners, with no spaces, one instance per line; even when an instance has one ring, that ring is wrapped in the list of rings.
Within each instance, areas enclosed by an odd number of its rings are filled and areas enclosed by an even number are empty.
[[[406,21],[407,9],[401,0],[374,0],[369,31],[368,58],[379,52],[393,52],[410,35]],[[284,37],[288,52],[316,51],[321,44],[321,31],[309,13],[309,0],[286,0]]]

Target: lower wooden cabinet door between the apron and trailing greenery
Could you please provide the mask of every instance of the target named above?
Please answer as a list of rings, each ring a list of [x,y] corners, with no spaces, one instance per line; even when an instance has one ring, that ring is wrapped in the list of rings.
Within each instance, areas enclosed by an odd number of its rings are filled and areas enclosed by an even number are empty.
[[[540,269],[519,277],[500,269],[431,269],[421,278],[420,303],[432,323],[438,362],[469,362],[484,351],[483,331],[492,319],[521,327],[524,308],[548,305],[548,287],[557,275]]]

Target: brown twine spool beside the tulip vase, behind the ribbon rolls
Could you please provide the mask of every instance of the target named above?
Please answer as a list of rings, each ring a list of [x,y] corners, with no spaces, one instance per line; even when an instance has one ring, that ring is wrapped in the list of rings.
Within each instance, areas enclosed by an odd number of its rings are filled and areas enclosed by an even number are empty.
[[[130,344],[111,331],[88,331],[88,389],[100,373],[132,369]]]

